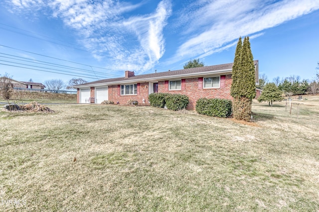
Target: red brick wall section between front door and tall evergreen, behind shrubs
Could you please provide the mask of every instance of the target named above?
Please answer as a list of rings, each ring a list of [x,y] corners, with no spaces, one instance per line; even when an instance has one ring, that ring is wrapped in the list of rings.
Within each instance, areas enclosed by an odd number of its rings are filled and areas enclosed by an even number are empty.
[[[195,110],[196,101],[199,98],[233,99],[230,95],[231,75],[226,75],[224,88],[198,88],[198,77],[185,79],[185,90],[165,90],[165,81],[159,81],[160,93],[178,93],[189,97],[187,110]]]

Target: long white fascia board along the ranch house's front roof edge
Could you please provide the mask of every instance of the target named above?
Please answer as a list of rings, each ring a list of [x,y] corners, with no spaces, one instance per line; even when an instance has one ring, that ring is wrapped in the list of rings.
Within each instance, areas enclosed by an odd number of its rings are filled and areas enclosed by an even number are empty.
[[[181,78],[193,78],[193,77],[202,77],[207,75],[224,75],[224,74],[231,74],[232,69],[224,69],[218,71],[203,71],[197,73],[187,73],[187,74],[178,74],[172,76],[159,76],[159,77],[150,77],[144,79],[132,79],[132,80],[122,80],[122,81],[115,81],[115,82],[104,82],[98,84],[90,84],[90,85],[83,85],[83,86],[73,86],[75,88],[82,88],[82,87],[96,87],[96,86],[106,86],[106,85],[118,85],[118,84],[130,84],[130,83],[138,83],[138,82],[148,82],[148,81],[163,81],[163,80],[172,80],[172,79],[181,79]]]

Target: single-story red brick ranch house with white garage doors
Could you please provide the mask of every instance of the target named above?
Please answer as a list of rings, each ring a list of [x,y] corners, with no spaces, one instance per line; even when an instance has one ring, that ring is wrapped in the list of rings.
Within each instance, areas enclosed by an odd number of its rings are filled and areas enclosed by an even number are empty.
[[[258,84],[258,60],[254,64],[255,82]],[[86,100],[94,97],[95,103],[111,100],[126,104],[133,100],[148,104],[151,93],[178,93],[189,97],[187,109],[194,110],[199,98],[232,99],[232,67],[230,63],[142,75],[125,71],[125,77],[88,82],[74,88],[77,88],[77,103],[87,103]]]

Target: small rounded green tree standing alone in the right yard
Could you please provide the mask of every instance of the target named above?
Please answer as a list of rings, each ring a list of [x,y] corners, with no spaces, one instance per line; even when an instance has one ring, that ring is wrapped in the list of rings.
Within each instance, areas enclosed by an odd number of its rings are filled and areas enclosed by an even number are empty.
[[[263,92],[258,97],[259,102],[269,102],[270,106],[273,106],[273,102],[282,101],[283,97],[281,91],[274,82],[267,83],[263,89]]]

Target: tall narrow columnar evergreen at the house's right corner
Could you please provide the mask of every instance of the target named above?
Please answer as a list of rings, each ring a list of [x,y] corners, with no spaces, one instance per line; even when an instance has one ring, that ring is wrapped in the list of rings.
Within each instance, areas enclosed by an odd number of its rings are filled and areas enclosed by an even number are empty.
[[[256,97],[255,65],[249,37],[244,38],[243,44],[241,38],[238,40],[232,79],[230,94],[234,97],[233,117],[237,120],[249,121],[252,100]]]

